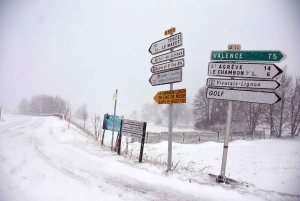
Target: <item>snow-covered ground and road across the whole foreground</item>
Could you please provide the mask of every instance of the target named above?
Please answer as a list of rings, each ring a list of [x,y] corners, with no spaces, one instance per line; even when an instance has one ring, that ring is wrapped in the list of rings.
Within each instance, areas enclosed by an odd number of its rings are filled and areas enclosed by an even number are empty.
[[[76,127],[68,130],[67,123],[56,117],[3,116],[1,201],[300,200],[300,141],[230,143],[226,173],[244,183],[226,185],[205,174],[219,174],[221,143],[174,143],[173,161],[180,162],[173,174],[166,174],[162,166],[112,153]],[[133,147],[138,151],[139,143]],[[166,150],[166,142],[146,144],[145,160],[153,162],[154,156],[163,160]],[[203,168],[205,173],[198,171]]]

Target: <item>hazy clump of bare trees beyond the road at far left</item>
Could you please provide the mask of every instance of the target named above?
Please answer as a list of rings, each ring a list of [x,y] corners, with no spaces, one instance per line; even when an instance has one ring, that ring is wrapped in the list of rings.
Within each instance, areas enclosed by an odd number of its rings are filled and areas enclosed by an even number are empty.
[[[42,114],[62,114],[70,112],[70,103],[59,96],[38,95],[30,100],[23,98],[19,104],[21,114],[42,115]]]

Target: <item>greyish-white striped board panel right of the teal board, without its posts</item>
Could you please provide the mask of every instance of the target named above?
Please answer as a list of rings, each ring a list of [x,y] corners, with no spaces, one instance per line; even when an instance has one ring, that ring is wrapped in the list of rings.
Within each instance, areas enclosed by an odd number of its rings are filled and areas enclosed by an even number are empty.
[[[141,138],[144,133],[144,122],[124,119],[122,120],[121,135]]]

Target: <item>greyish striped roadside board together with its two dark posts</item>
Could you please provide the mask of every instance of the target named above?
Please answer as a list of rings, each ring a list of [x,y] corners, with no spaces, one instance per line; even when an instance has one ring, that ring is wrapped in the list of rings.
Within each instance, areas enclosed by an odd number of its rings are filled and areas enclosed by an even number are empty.
[[[128,137],[141,138],[142,140],[141,140],[141,149],[140,149],[140,157],[139,157],[139,162],[141,163],[143,160],[146,127],[147,127],[147,122],[122,119],[121,120],[121,135],[120,135],[119,143],[118,143],[119,144],[118,154],[120,154],[122,135],[128,136]]]

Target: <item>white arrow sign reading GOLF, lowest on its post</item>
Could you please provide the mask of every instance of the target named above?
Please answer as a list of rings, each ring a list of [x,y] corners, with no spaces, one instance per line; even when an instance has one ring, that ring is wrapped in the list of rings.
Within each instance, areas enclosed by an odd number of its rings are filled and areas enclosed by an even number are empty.
[[[206,98],[267,104],[274,104],[281,100],[281,98],[273,92],[241,91],[217,88],[207,88]]]

